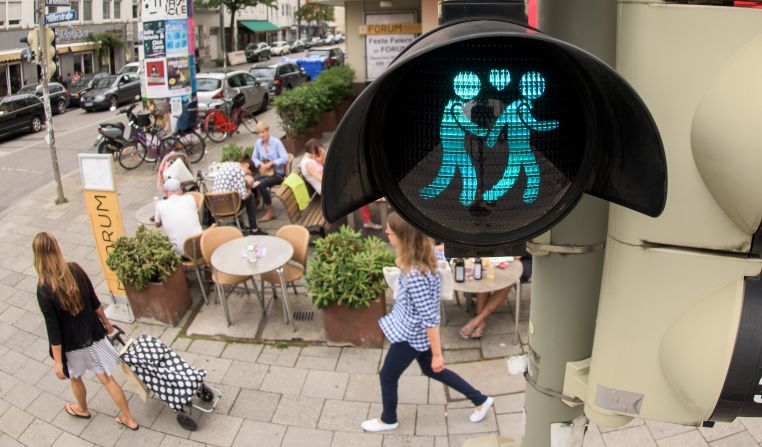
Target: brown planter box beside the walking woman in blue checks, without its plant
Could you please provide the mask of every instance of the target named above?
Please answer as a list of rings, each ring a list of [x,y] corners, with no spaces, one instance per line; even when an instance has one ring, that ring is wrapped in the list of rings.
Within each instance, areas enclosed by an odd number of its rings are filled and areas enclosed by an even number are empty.
[[[363,348],[380,348],[384,344],[384,333],[378,319],[385,313],[386,298],[383,294],[370,307],[362,310],[331,304],[323,309],[326,340]]]

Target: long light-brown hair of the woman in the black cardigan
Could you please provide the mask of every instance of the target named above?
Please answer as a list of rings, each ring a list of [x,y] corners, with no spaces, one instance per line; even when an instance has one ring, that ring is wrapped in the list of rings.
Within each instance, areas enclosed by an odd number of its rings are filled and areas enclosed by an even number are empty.
[[[56,238],[49,233],[37,233],[32,242],[32,251],[34,251],[34,268],[37,270],[38,284],[51,288],[64,311],[72,315],[80,313],[83,304],[79,295],[79,286],[61,254]]]

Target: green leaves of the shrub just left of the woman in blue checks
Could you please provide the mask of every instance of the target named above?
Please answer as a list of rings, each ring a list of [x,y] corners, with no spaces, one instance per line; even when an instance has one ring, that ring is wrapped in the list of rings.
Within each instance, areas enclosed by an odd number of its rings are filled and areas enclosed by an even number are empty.
[[[318,309],[336,303],[365,309],[386,290],[383,268],[394,265],[394,253],[381,239],[348,226],[315,241],[309,260],[307,294]]]

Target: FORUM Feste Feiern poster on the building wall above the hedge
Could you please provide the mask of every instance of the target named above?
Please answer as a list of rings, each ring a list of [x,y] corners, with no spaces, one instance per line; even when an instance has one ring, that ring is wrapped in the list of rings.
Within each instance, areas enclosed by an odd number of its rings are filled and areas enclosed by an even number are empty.
[[[365,14],[370,25],[414,23],[415,13]],[[372,81],[386,71],[394,58],[415,40],[415,34],[368,34],[365,36],[365,78]]]

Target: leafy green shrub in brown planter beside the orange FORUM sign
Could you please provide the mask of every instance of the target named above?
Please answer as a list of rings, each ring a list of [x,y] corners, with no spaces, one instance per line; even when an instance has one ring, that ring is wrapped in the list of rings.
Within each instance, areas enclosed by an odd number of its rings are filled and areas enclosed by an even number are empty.
[[[176,326],[191,305],[180,258],[169,238],[138,226],[135,237],[120,237],[106,259],[124,285],[136,318]]]

